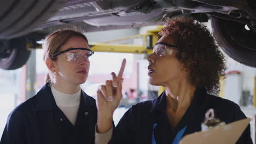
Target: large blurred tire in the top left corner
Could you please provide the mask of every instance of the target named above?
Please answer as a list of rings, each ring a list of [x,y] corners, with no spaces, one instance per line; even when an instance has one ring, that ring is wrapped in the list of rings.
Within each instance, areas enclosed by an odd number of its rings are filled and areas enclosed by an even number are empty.
[[[66,0],[8,0],[0,2],[0,39],[18,38],[42,25]]]

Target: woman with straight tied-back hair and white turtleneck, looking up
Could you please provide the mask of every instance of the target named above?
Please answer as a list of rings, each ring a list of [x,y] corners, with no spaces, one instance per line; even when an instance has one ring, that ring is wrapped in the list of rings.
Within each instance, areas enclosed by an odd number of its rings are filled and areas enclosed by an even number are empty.
[[[88,39],[78,31],[59,30],[45,38],[43,50],[46,83],[10,113],[0,143],[94,143],[95,99],[80,88],[94,54]]]

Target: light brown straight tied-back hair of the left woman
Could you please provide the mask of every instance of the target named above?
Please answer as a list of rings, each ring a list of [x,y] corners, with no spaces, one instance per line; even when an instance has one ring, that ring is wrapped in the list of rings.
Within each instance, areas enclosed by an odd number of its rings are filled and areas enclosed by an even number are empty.
[[[43,60],[50,58],[53,61],[57,61],[57,57],[52,57],[54,53],[60,52],[61,46],[65,45],[66,41],[71,37],[81,37],[88,43],[88,39],[85,35],[79,31],[73,29],[61,29],[49,34],[43,44]],[[54,82],[55,77],[53,71],[48,70],[45,82],[49,82],[50,85]]]

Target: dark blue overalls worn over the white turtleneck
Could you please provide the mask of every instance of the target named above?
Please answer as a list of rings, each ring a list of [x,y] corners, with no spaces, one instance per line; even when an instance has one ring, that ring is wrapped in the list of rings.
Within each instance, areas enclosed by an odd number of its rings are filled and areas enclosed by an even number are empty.
[[[75,126],[57,107],[49,83],[9,115],[1,144],[94,143],[97,107],[95,99],[81,92]]]

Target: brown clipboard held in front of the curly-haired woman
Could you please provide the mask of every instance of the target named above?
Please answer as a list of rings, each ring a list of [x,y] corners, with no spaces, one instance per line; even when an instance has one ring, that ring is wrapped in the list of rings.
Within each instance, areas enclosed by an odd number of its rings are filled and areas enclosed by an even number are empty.
[[[185,135],[181,141],[179,141],[179,144],[234,144],[242,135],[243,131],[245,131],[249,122],[250,118],[245,118],[211,130]]]

